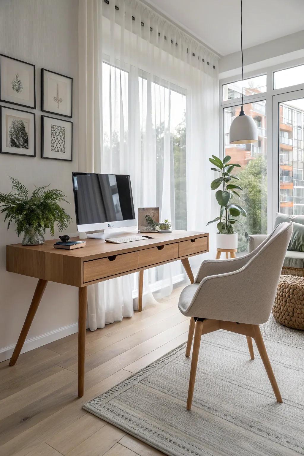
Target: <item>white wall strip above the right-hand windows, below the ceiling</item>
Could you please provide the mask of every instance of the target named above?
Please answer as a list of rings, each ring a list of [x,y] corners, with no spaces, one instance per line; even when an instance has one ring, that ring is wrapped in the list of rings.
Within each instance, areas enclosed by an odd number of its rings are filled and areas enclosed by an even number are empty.
[[[243,55],[246,73],[301,58],[304,56],[304,30],[244,49]],[[219,78],[234,76],[241,68],[241,52],[224,56],[219,60]]]

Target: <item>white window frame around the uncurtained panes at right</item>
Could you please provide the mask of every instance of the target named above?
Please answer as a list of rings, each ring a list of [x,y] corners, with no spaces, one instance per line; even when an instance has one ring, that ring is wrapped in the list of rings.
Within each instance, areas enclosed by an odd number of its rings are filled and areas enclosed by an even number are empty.
[[[279,195],[279,150],[278,150],[278,109],[274,108],[274,97],[278,96],[293,96],[294,92],[304,90],[304,83],[293,86],[274,89],[274,73],[276,71],[297,67],[304,64],[304,57],[289,62],[282,62],[277,65],[259,68],[255,71],[246,72],[243,74],[243,79],[254,78],[256,76],[267,75],[266,92],[256,93],[250,96],[243,97],[243,103],[254,103],[257,101],[266,100],[266,137],[267,137],[267,228],[268,233],[271,233],[274,226],[275,215],[279,212],[280,195]],[[220,131],[220,157],[223,158],[225,152],[225,132],[224,132],[224,108],[237,106],[242,103],[242,97],[233,98],[232,100],[223,101],[223,85],[241,80],[241,73],[233,76],[222,78],[219,81],[219,131]],[[295,96],[296,98],[303,98]],[[277,135],[277,136],[276,136]]]

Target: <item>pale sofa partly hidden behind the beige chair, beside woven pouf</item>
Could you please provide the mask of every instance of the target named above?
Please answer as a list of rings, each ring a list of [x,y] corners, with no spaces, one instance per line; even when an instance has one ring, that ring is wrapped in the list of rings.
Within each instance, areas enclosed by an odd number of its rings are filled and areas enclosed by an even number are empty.
[[[277,212],[274,228],[283,222],[293,222],[294,231],[283,263],[283,275],[304,277],[304,215],[288,215]],[[256,249],[267,234],[251,234],[248,236],[248,253]]]

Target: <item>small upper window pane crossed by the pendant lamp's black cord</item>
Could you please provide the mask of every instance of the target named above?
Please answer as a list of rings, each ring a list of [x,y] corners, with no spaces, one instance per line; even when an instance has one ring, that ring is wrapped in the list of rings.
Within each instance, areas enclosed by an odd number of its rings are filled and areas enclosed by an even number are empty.
[[[266,92],[267,76],[257,76],[256,78],[243,79],[243,95],[254,95]],[[242,97],[242,81],[236,81],[223,85],[223,101]]]

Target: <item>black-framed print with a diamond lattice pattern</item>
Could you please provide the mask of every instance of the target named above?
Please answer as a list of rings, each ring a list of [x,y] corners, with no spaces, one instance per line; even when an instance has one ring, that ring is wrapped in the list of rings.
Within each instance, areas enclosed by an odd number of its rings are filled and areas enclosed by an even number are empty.
[[[73,161],[73,122],[71,120],[41,115],[41,158]]]

